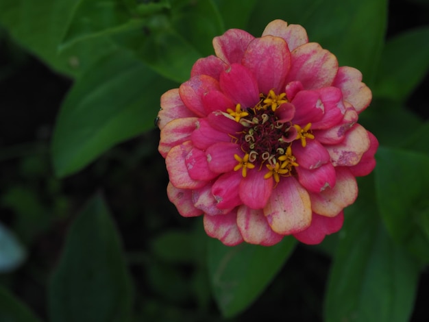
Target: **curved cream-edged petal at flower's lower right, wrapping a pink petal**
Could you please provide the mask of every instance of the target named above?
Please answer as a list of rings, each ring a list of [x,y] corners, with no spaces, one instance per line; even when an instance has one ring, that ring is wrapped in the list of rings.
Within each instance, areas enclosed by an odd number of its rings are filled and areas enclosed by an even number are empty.
[[[358,184],[352,173],[343,166],[335,168],[336,184],[321,193],[310,193],[312,211],[322,216],[336,216],[358,197]]]

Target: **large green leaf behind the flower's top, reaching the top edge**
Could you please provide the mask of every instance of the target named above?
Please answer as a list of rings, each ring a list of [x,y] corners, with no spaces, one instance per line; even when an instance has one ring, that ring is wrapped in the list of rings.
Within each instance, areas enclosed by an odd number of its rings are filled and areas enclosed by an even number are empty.
[[[387,0],[259,1],[249,31],[259,36],[275,18],[302,25],[310,42],[332,51],[340,66],[359,69],[371,85],[384,40]]]

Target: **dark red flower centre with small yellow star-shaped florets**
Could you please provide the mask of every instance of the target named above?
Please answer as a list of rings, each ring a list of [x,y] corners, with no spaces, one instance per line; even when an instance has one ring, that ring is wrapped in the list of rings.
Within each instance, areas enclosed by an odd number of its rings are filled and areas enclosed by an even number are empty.
[[[244,126],[242,132],[232,136],[245,153],[243,158],[234,155],[238,162],[234,171],[241,169],[243,177],[247,169],[254,168],[265,169],[265,179],[273,177],[276,184],[280,177],[295,175],[298,164],[292,142],[301,140],[302,147],[306,147],[306,140],[315,138],[310,130],[311,123],[304,127],[292,123],[295,108],[285,97],[284,92],[275,95],[270,90],[268,95],[260,94],[260,101],[252,108],[242,109],[237,104],[235,110],[227,110],[229,117]]]

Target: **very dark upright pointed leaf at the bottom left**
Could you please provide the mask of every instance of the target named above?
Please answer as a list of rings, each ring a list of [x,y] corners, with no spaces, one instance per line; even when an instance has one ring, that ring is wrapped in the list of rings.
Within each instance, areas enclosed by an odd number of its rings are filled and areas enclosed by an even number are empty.
[[[130,321],[132,288],[121,240],[97,195],[67,234],[49,284],[52,322]]]

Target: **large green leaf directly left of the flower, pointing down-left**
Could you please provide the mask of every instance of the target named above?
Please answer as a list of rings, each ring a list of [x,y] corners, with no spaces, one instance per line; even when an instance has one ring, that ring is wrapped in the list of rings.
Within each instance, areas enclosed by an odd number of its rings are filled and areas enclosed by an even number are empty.
[[[174,84],[117,52],[75,82],[53,133],[58,176],[79,171],[113,145],[154,127],[159,97]]]

